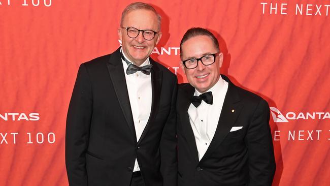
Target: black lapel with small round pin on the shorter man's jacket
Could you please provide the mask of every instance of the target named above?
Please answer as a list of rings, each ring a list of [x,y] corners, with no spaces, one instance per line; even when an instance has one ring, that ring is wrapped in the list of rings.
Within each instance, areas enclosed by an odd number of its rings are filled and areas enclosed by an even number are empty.
[[[209,148],[205,152],[201,162],[207,159],[215,149],[221,144],[223,139],[227,136],[230,129],[234,126],[237,116],[240,114],[242,104],[239,102],[240,98],[236,90],[236,86],[228,79],[223,78],[228,82],[228,90],[224,98],[219,122],[215,131],[214,137],[210,143]]]

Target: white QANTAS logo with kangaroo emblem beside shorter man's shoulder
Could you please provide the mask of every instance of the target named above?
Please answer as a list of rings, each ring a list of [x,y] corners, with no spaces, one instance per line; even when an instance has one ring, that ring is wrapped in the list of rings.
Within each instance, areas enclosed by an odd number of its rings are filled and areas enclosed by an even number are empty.
[[[273,116],[274,122],[289,122],[292,119],[329,119],[330,120],[330,113],[329,112],[287,112],[285,115],[282,114],[276,107],[270,107],[271,113]]]

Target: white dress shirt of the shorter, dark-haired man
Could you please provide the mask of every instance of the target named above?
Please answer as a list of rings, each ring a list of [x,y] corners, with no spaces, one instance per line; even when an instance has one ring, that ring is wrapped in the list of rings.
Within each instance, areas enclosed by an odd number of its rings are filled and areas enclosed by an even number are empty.
[[[224,98],[228,89],[228,82],[220,76],[219,81],[208,91],[212,91],[213,104],[207,104],[202,100],[197,108],[190,104],[188,115],[190,125],[195,136],[199,160],[203,158],[206,150],[210,146],[215,130],[218,126],[220,113]],[[201,92],[195,89],[194,96],[200,96]],[[221,123],[220,123],[221,125]]]

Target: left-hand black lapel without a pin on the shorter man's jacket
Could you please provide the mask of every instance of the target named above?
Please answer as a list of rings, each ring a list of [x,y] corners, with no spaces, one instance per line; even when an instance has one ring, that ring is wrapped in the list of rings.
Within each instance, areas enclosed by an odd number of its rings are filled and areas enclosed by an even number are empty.
[[[185,84],[184,87],[182,87],[182,90],[180,91],[181,93],[180,95],[178,95],[177,99],[177,112],[179,113],[178,116],[182,126],[182,135],[186,140],[190,148],[190,152],[191,154],[193,154],[195,161],[199,162],[196,140],[191,128],[190,119],[188,115],[188,108],[191,104],[190,98],[193,96],[194,90],[194,87],[189,84]]]

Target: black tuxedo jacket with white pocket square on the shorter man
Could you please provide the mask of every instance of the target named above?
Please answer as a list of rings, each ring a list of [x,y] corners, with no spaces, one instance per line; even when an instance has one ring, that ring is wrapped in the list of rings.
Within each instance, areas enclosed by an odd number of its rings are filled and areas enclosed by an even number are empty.
[[[178,185],[271,185],[275,159],[268,103],[222,78],[228,82],[228,90],[215,135],[201,161],[187,113],[195,90],[188,83],[179,85]],[[232,127],[243,128],[229,132]]]

